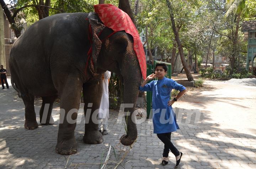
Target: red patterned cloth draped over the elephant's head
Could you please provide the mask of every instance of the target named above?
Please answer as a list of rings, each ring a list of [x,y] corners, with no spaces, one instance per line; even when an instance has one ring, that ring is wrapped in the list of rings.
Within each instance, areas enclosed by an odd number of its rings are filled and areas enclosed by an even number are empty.
[[[126,33],[133,36],[133,49],[139,61],[142,77],[146,79],[145,52],[140,41],[138,30],[132,22],[132,19],[127,13],[111,4],[94,5],[94,9],[106,27],[113,29],[114,32],[124,30]]]

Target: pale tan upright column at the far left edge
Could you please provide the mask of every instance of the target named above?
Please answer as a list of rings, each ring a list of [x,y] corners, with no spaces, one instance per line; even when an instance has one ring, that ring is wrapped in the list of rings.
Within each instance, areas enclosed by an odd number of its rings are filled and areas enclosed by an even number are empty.
[[[4,12],[1,6],[0,6],[0,64],[6,67],[5,40],[4,40]]]

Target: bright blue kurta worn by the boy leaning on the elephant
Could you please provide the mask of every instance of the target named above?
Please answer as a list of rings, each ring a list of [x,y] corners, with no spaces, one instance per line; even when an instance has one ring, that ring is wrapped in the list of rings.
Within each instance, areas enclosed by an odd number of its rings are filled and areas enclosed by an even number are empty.
[[[152,113],[154,133],[170,133],[180,129],[176,122],[176,115],[171,106],[168,106],[172,89],[183,91],[186,88],[172,79],[164,77],[161,80],[153,80],[141,91],[152,91]]]

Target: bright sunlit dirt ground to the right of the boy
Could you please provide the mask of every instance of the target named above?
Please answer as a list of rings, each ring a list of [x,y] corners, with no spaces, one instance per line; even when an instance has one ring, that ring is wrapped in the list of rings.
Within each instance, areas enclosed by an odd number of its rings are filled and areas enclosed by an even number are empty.
[[[198,79],[199,74],[192,74]],[[172,77],[186,79],[186,74]],[[256,87],[204,80],[204,87],[187,87],[174,107],[200,113],[198,125],[211,125],[239,133],[256,135]]]

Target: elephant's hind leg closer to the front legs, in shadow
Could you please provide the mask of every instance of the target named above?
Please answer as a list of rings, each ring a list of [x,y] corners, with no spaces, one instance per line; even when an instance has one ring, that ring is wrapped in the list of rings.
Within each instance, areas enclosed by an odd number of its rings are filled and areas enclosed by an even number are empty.
[[[54,120],[52,118],[52,109],[53,102],[55,101],[56,96],[47,96],[42,97],[42,107],[40,109],[40,123],[42,125],[52,125]]]

